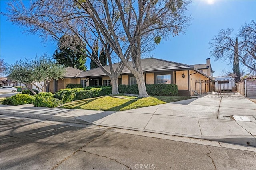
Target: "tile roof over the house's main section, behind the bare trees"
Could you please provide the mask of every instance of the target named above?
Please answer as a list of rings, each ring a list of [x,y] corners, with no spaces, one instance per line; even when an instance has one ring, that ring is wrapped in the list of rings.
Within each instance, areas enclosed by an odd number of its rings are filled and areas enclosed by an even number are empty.
[[[129,61],[132,64],[132,61]],[[118,67],[119,63],[112,64],[114,70]],[[166,61],[156,58],[146,58],[141,59],[142,71],[143,72],[155,72],[164,70],[192,70],[194,67],[182,63],[176,63],[172,61]],[[104,68],[110,72],[109,66],[104,66]],[[121,74],[130,74],[130,70],[124,67]],[[106,76],[106,74],[100,68],[94,68],[92,70],[81,72],[77,77],[94,77],[94,76]]]

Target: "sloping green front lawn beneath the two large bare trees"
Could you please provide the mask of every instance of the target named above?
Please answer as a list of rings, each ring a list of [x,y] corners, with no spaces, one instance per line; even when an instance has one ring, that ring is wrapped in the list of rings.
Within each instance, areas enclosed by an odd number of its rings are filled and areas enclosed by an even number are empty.
[[[86,109],[86,110],[105,110],[105,111],[124,111],[137,109],[141,107],[154,106],[168,102],[176,102],[180,100],[190,99],[191,97],[180,96],[151,96],[148,98],[136,98],[134,96],[122,96],[126,99],[104,96],[98,98],[90,98],[77,100],[61,106],[67,109]]]

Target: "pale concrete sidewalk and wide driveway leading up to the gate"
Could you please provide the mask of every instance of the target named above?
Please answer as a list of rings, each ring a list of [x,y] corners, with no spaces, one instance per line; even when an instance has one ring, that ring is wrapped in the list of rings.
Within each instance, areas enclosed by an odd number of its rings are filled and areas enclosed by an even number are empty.
[[[1,105],[0,113],[256,146],[256,104],[243,96],[207,95],[119,112]]]

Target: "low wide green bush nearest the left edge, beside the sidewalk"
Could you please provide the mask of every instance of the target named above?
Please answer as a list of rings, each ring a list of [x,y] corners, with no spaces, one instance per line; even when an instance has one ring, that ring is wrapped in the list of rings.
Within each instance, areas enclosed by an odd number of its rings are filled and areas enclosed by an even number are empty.
[[[5,105],[22,105],[22,104],[30,104],[34,101],[34,97],[29,94],[16,94],[10,98],[6,98],[3,100],[2,104]]]

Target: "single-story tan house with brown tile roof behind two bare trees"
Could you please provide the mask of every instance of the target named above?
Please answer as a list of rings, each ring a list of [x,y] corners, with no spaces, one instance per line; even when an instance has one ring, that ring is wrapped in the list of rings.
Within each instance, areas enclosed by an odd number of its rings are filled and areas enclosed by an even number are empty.
[[[131,63],[131,61],[129,61]],[[211,80],[211,77],[204,72],[194,68],[194,66],[166,61],[156,58],[141,59],[142,71],[146,84],[177,84],[180,96],[192,96],[196,89],[197,80]],[[118,63],[113,64],[116,69]],[[106,70],[110,70],[109,66],[104,66]],[[100,68],[94,68],[88,71],[82,71],[75,68],[68,68],[64,80],[58,80],[57,83],[51,82],[49,92],[56,92],[65,88],[68,83],[82,84],[86,86],[109,86],[111,85],[110,78]],[[60,86],[60,82],[61,86]],[[135,76],[126,68],[122,70],[118,78],[118,85],[137,84]],[[207,92],[210,91],[210,84],[205,87]],[[55,89],[55,90],[54,90]]]

